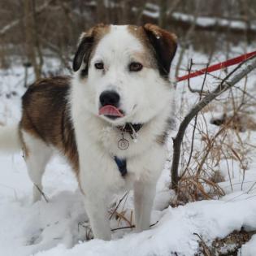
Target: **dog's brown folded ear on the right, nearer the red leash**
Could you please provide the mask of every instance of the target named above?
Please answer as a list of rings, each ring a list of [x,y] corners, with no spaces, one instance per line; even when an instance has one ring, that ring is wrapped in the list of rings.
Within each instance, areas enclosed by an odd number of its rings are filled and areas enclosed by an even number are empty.
[[[159,72],[162,76],[167,77],[170,72],[171,61],[176,54],[176,35],[159,28],[154,24],[145,24],[143,28],[150,44],[154,48],[158,61]]]

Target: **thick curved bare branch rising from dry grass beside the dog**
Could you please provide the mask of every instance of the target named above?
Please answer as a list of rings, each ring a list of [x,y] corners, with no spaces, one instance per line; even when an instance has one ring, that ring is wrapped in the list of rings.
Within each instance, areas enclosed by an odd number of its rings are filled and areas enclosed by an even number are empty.
[[[189,126],[190,121],[198,114],[199,111],[217,98],[220,94],[226,92],[228,89],[236,85],[242,78],[247,76],[249,72],[256,68],[256,58],[251,58],[239,64],[232,72],[228,74],[217,86],[217,88],[210,93],[207,93],[200,102],[198,102],[189,113],[184,117],[180,124],[176,137],[173,138],[173,155],[171,164],[171,189],[177,189],[179,176],[179,163],[180,163],[180,146],[183,141],[184,132]]]

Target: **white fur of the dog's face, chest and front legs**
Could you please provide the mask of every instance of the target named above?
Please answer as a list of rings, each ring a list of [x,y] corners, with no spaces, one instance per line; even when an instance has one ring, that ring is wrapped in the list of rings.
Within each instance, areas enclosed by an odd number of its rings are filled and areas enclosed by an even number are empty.
[[[141,42],[126,26],[112,26],[98,43],[88,78],[80,79],[76,72],[72,80],[70,103],[80,156],[80,185],[94,236],[105,240],[111,239],[108,199],[120,189],[134,189],[137,231],[150,228],[155,186],[166,158],[165,147],[158,145],[156,136],[163,132],[171,113],[171,88],[153,68],[128,72],[135,52],[143,52]],[[94,68],[98,61],[104,63],[104,75]],[[98,116],[99,95],[108,89],[119,93],[124,118],[111,121]],[[119,150],[121,134],[114,126],[128,122],[144,127],[137,142],[125,134],[129,147]],[[126,158],[127,177],[120,176],[113,155]]]

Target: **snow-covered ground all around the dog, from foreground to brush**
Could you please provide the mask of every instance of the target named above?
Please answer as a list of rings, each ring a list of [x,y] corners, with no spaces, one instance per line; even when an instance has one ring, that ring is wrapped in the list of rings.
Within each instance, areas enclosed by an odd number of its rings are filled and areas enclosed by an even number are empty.
[[[190,51],[194,62],[206,63],[207,57],[203,54]],[[189,55],[188,55],[189,56]],[[219,54],[219,60],[224,60]],[[184,67],[189,57],[184,58]],[[214,60],[215,61],[215,60]],[[53,68],[54,68],[54,64]],[[175,67],[175,66],[174,66]],[[216,72],[215,76],[224,76],[223,72]],[[20,65],[7,71],[0,71],[0,123],[11,124],[20,118],[20,96],[24,93],[24,68]],[[29,76],[33,80],[33,76]],[[249,75],[247,80],[248,91],[254,97],[256,72]],[[244,85],[242,80],[240,85]],[[202,84],[202,77],[191,80],[191,86]],[[206,86],[216,85],[211,76],[207,78]],[[197,96],[189,93],[184,82],[178,85],[176,92],[177,106],[180,98],[184,101],[184,115],[189,106],[197,102]],[[212,87],[211,87],[212,88]],[[13,92],[17,92],[16,94]],[[177,111],[179,111],[177,107]],[[217,111],[207,114],[210,120]],[[178,115],[178,114],[177,114]],[[178,117],[179,117],[178,115]],[[253,116],[256,118],[256,115]],[[200,117],[199,117],[200,121]],[[219,130],[208,124],[209,132]],[[193,127],[189,128],[187,138],[190,137]],[[175,132],[171,134],[175,135]],[[240,132],[241,140],[256,145],[256,132]],[[171,136],[169,138],[171,149]],[[202,141],[196,135],[195,149],[200,149]],[[253,148],[253,147],[252,147]],[[40,153],[39,153],[40,154]],[[171,155],[171,153],[170,153]],[[256,230],[256,149],[249,150],[246,155],[247,167],[245,179],[237,162],[232,162],[232,170],[228,170],[225,159],[219,160],[221,174],[225,181],[219,186],[226,195],[215,197],[215,200],[189,202],[184,206],[171,208],[169,202],[174,193],[168,189],[170,184],[167,161],[163,175],[158,181],[157,196],[150,230],[134,233],[131,228],[113,231],[112,241],[90,240],[88,218],[77,187],[75,176],[72,174],[65,160],[53,158],[47,166],[43,184],[49,202],[41,200],[31,204],[32,183],[24,164],[22,153],[15,155],[0,155],[0,255],[4,256],[71,256],[71,255],[194,255],[198,253],[199,236],[207,245],[216,237],[223,238],[234,230],[242,227],[246,231]],[[230,176],[229,172],[232,172]],[[229,176],[228,176],[229,173]],[[229,179],[229,177],[231,177]],[[231,185],[232,184],[232,185]],[[124,195],[118,195],[115,202]],[[118,208],[124,218],[112,218],[113,229],[128,226],[132,223],[132,192]],[[256,255],[256,235],[241,247],[241,255]]]

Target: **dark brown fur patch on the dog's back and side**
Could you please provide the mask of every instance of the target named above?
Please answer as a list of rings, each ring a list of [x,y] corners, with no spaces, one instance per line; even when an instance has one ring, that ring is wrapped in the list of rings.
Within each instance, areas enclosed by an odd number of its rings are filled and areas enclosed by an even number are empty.
[[[77,175],[79,158],[67,102],[70,83],[69,77],[56,76],[31,85],[22,98],[20,129],[59,149]],[[29,154],[25,144],[24,151]]]

